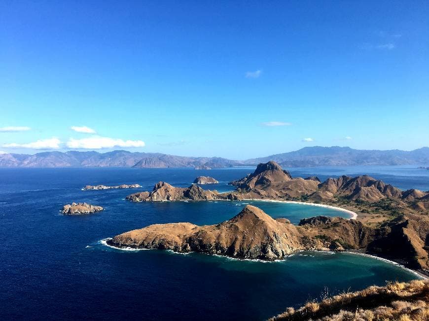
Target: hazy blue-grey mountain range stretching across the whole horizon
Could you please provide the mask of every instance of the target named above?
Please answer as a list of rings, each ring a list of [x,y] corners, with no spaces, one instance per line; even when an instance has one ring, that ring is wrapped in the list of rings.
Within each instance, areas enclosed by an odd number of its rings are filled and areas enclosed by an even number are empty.
[[[0,154],[0,167],[191,167],[221,168],[250,166],[274,160],[287,167],[325,165],[428,165],[429,147],[413,151],[357,150],[350,147],[305,147],[298,151],[250,160],[228,160],[219,157],[183,157],[161,153],[128,151],[43,152],[35,155]]]

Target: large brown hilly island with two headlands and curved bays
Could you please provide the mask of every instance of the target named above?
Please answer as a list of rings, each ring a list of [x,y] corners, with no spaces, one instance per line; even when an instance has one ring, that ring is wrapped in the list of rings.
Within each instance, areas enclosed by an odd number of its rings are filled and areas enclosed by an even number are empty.
[[[357,220],[319,216],[303,219],[295,226],[247,206],[238,216],[218,225],[150,225],[117,235],[109,244],[266,260],[299,250],[360,251],[429,274],[428,192],[401,191],[367,175],[343,175],[322,183],[316,177],[293,178],[274,161],[258,164],[253,173],[230,184],[237,190],[218,193],[197,185],[178,188],[159,182],[151,192],[134,193],[126,199],[313,202],[353,211]]]

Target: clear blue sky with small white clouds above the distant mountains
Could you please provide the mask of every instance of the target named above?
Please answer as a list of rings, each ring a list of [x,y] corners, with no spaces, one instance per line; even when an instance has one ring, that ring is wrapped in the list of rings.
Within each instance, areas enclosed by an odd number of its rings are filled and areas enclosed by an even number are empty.
[[[428,16],[428,1],[4,0],[0,151],[428,146]]]

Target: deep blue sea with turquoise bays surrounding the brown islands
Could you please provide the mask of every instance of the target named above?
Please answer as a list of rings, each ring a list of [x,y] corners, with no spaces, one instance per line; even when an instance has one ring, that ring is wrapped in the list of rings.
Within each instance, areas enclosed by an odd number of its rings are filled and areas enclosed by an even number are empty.
[[[413,167],[290,168],[292,176],[367,173],[401,189],[429,190],[429,171]],[[245,202],[131,203],[129,193],[160,181],[187,187],[199,175],[228,181],[253,168],[0,169],[0,319],[263,320],[322,293],[416,278],[398,266],[346,253],[301,252],[283,261],[242,261],[203,254],[123,251],[100,241],[154,223],[214,224]],[[139,183],[142,189],[81,191],[85,185]],[[101,205],[91,215],[65,216],[72,201]],[[252,202],[292,223],[347,213],[299,204]]]

